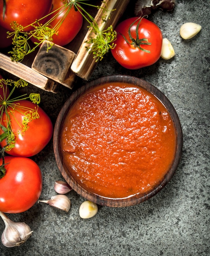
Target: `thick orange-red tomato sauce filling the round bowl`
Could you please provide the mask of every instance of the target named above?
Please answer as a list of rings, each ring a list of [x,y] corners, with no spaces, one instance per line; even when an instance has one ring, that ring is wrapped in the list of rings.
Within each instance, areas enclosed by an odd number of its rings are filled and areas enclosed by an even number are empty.
[[[106,198],[145,194],[172,164],[176,133],[168,110],[147,90],[109,83],[71,106],[61,149],[71,176]]]

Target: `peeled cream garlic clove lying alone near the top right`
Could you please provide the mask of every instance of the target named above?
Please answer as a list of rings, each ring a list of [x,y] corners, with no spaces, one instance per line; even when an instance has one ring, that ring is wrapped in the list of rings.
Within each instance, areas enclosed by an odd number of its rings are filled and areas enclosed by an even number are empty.
[[[201,25],[193,22],[186,22],[180,27],[179,34],[183,39],[190,39],[196,36],[199,31],[201,31]]]

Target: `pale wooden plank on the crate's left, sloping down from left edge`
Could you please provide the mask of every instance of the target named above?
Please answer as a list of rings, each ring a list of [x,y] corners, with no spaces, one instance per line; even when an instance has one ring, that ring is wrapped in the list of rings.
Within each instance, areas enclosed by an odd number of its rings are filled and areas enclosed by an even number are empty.
[[[51,79],[20,62],[11,61],[11,58],[2,53],[0,53],[0,68],[43,90],[54,93],[59,90],[59,85]]]

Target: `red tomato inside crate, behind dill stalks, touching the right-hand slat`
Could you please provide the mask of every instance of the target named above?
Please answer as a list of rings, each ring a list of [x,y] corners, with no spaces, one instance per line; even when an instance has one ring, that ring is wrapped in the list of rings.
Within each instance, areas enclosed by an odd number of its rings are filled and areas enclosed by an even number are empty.
[[[63,7],[63,8],[56,11],[60,7]],[[56,11],[56,12],[49,15],[45,20],[45,23],[51,20],[58,12],[62,11],[58,16],[56,16],[56,18],[54,18],[50,22],[50,26],[54,28],[55,26],[57,26],[58,22],[60,22],[60,20],[66,15],[67,10],[68,9],[65,8],[65,4],[63,3],[63,0],[53,0],[52,12],[53,11]],[[80,31],[82,25],[83,25],[82,14],[79,11],[75,11],[74,7],[71,7],[71,9],[69,10],[69,13],[63,20],[60,27],[58,29],[55,29],[56,31],[58,31],[58,34],[55,34],[54,36],[52,36],[53,43],[60,46],[67,45],[75,38],[75,36]],[[31,40],[33,42],[38,42],[38,40],[35,38],[31,38]]]

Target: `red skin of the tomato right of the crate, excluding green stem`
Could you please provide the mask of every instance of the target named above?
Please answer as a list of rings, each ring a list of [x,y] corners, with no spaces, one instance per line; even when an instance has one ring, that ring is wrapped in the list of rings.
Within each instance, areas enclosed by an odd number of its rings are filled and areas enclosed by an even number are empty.
[[[120,63],[123,67],[131,70],[150,66],[158,61],[161,56],[163,41],[163,36],[159,27],[145,18],[142,18],[140,22],[138,29],[139,38],[137,38],[136,26],[139,22],[139,19],[137,19],[137,17],[129,18],[116,26],[115,31],[118,33],[117,39],[114,42],[116,43],[116,47],[111,50],[112,55],[114,56],[116,61]],[[132,38],[134,38],[135,40],[136,38],[146,38],[148,40],[148,43],[151,43],[151,45],[144,45],[140,43],[139,46],[147,51],[150,51],[150,53],[139,49],[138,45],[136,47],[134,44],[132,44],[134,42],[129,37],[129,27],[133,22],[134,25],[132,25],[132,27],[130,28]],[[129,43],[126,42],[123,36],[125,36]]]

